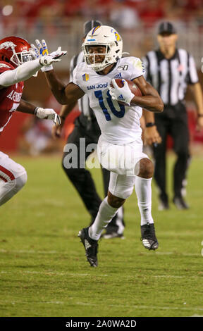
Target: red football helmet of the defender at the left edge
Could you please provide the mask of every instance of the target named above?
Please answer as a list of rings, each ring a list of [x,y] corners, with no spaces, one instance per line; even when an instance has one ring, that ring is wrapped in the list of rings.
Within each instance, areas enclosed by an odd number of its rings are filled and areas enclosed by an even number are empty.
[[[0,61],[11,63],[15,68],[18,65],[32,61],[30,44],[20,37],[6,37],[0,40]]]

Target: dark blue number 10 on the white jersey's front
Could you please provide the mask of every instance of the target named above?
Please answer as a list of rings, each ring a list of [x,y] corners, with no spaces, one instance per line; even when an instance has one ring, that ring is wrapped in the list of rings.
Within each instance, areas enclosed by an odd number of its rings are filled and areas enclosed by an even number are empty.
[[[102,91],[94,91],[94,94],[96,96],[97,99],[99,99],[99,106],[101,107],[106,120],[111,120],[111,115],[109,114],[109,111],[106,109],[106,106],[104,105],[104,101],[103,101],[103,94]],[[109,94],[109,90],[106,93],[106,101],[109,105],[109,108],[111,109],[113,115],[115,115],[118,118],[122,118],[125,115],[125,106],[118,104],[119,108],[121,109],[121,111],[117,111],[116,108],[113,105],[113,101],[111,99],[111,95]]]

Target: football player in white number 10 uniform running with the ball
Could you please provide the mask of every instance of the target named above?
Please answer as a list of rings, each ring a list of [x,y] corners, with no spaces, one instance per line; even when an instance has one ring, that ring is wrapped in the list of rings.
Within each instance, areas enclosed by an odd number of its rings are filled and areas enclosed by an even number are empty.
[[[54,70],[47,71],[45,75],[61,104],[73,103],[86,93],[101,129],[97,155],[101,165],[111,171],[109,192],[101,202],[94,223],[79,232],[87,261],[90,266],[97,267],[101,232],[133,193],[134,186],[141,214],[142,244],[147,249],[159,246],[151,213],[154,166],[142,152],[140,117],[142,108],[161,112],[164,104],[156,89],[144,79],[140,59],[132,56],[121,58],[123,42],[113,27],[94,27],[87,34],[82,49],[85,63],[76,66],[73,82],[63,85]],[[123,87],[116,85],[115,78],[123,79]],[[142,96],[134,96],[125,80],[135,82]],[[110,86],[111,81],[113,87]]]

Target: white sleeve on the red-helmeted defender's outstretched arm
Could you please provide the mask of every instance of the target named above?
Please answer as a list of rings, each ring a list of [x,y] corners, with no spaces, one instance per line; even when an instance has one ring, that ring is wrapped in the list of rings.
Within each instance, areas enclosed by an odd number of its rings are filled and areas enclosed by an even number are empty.
[[[19,65],[16,69],[6,70],[0,75],[0,85],[7,87],[17,82],[22,82],[32,77],[37,70],[42,68],[42,65],[39,64],[39,58],[33,61],[25,62],[22,65]]]

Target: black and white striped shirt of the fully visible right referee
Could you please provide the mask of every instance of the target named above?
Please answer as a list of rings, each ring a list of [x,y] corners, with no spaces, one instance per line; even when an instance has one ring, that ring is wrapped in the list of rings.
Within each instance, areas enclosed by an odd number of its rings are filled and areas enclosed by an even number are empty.
[[[145,79],[159,92],[165,105],[183,101],[187,85],[198,82],[194,58],[185,49],[176,49],[167,59],[161,51],[149,51],[142,59]]]

